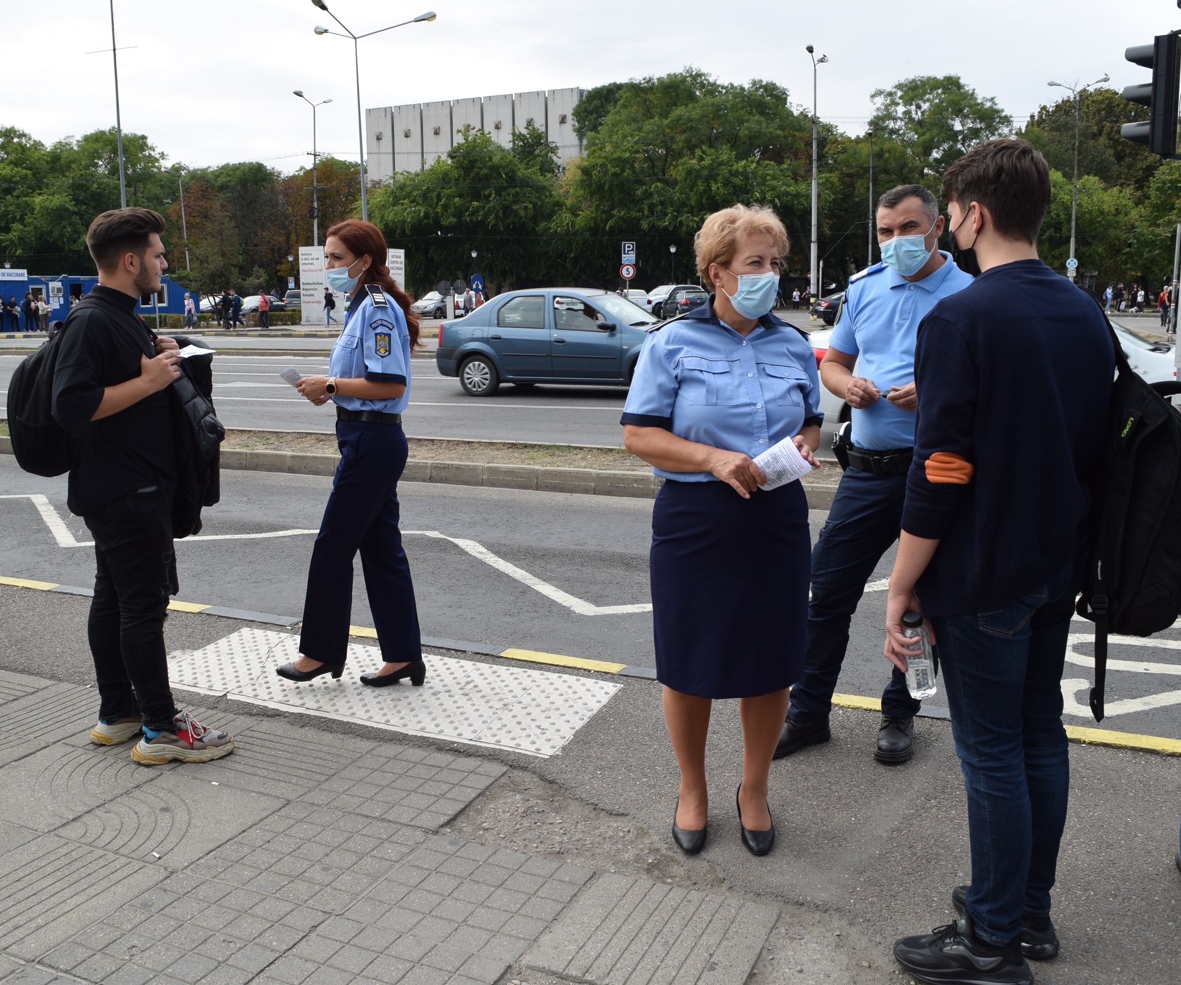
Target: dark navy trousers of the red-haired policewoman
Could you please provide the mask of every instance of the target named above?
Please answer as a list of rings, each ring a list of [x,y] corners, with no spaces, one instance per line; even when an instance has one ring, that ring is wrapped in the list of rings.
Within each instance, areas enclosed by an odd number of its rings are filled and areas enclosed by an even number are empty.
[[[359,550],[365,592],[381,659],[422,659],[418,608],[398,530],[398,480],[406,467],[400,424],[338,420],[340,464],[312,549],[299,650],[344,664],[353,607],[353,559]]]

